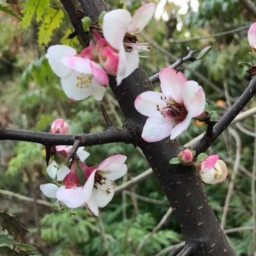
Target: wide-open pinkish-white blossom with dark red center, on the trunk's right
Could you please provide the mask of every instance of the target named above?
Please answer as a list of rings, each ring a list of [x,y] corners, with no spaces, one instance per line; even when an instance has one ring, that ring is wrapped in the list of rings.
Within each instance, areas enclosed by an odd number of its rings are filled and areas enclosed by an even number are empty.
[[[175,139],[205,107],[205,93],[196,81],[187,81],[182,72],[164,68],[160,74],[162,92],[146,91],[135,99],[136,110],[149,117],[142,138],[147,142]]]

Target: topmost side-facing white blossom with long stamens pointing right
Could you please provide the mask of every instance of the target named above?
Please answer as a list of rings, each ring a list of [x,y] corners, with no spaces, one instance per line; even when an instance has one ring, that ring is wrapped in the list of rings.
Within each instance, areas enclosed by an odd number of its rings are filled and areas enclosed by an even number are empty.
[[[156,10],[154,3],[139,7],[133,17],[127,10],[107,12],[103,18],[105,40],[118,51],[117,85],[138,67],[140,51],[149,50],[148,44],[136,44],[137,37],[127,33],[138,33],[148,24]]]

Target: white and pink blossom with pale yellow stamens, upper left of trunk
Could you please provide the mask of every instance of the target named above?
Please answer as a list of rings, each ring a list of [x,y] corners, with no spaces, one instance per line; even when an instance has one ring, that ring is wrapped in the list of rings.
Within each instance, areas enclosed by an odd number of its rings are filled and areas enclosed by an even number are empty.
[[[79,55],[74,48],[67,45],[52,45],[45,57],[57,76],[68,98],[85,99],[92,95],[96,100],[102,100],[108,77],[92,56],[93,44]]]

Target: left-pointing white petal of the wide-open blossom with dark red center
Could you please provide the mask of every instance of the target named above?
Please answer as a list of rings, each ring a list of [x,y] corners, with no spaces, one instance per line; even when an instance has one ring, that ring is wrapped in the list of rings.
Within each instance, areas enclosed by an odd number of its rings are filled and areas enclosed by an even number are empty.
[[[147,117],[162,117],[157,108],[166,106],[165,95],[156,91],[145,91],[135,99],[136,110]]]

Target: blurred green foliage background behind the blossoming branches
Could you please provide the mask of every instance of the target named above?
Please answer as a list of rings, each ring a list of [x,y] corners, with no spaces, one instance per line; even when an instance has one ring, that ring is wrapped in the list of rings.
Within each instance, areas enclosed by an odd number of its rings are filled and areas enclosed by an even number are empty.
[[[68,44],[81,50],[76,38],[66,39],[73,30],[60,2],[6,2],[5,5],[23,18],[19,21],[0,11],[0,123],[12,128],[49,131],[51,122],[61,117],[71,125],[72,133],[104,130],[99,103],[93,98],[80,102],[68,99],[61,90],[60,80],[44,58],[46,49],[52,44]],[[106,2],[113,9],[124,7],[134,12],[147,1]],[[172,64],[177,57],[186,55],[188,48],[201,50],[212,45],[212,50],[204,59],[185,63],[177,69],[183,71],[189,80],[196,80],[204,87],[208,108],[218,112],[218,120],[249,83],[247,67],[238,63],[256,63],[247,42],[248,25],[255,17],[237,0],[155,2],[158,7],[154,19],[138,35],[141,42],[146,38],[153,42],[149,58],[141,58],[141,65],[150,76]],[[236,28],[241,29],[214,36]],[[191,40],[194,37],[197,40]],[[155,84],[155,88],[159,90],[159,84]],[[124,120],[110,88],[103,105],[115,125],[120,127]],[[244,110],[255,106],[255,100],[251,100]],[[195,121],[179,137],[180,143],[190,141],[205,128],[205,125]],[[255,202],[253,204],[251,181],[253,165],[256,165],[254,129],[254,117],[251,115],[232,125],[232,130],[226,130],[208,150],[209,153],[218,152],[229,168],[229,177],[224,183],[205,186],[219,220],[222,219],[237,159],[234,190],[224,224],[237,255],[255,253],[252,232]],[[86,150],[91,154],[87,159],[88,165],[97,165],[116,153],[128,156],[128,174],[117,181],[117,186],[149,168],[141,152],[132,145],[113,143],[91,146]],[[91,216],[85,208],[74,210],[75,215],[69,216],[67,208],[58,211],[49,204],[12,197],[11,193],[3,195],[4,190],[46,200],[39,190],[40,184],[50,181],[46,176],[42,151],[43,146],[38,144],[0,142],[0,210],[7,210],[25,223],[30,231],[27,242],[37,248],[38,255],[134,255],[142,238],[156,227],[168,210],[167,199],[153,175],[116,195],[101,211],[99,219]],[[169,246],[182,241],[179,224],[170,215],[161,229],[146,239],[138,255],[173,255],[175,246]]]

